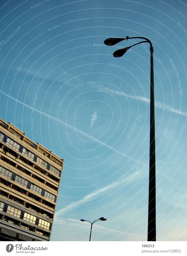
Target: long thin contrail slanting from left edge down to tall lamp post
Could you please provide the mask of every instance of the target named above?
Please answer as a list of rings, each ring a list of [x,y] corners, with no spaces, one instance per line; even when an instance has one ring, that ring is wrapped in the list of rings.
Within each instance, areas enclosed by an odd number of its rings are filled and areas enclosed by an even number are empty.
[[[23,102],[21,102],[20,100],[17,100],[16,98],[14,98],[14,97],[8,95],[7,93],[4,93],[4,92],[1,92],[1,93],[4,94],[5,96],[7,96],[9,99],[14,100],[14,101],[16,101],[17,103],[19,103],[19,104],[21,104],[21,105],[23,105],[23,106],[25,106],[25,107],[27,107],[27,108],[33,110],[33,108],[32,108],[31,106],[29,106],[28,104],[23,103]],[[70,128],[70,129],[72,129],[72,130],[78,132],[79,134],[82,134],[84,137],[88,137],[88,138],[91,139],[92,141],[95,141],[95,142],[97,142],[97,143],[99,143],[99,144],[101,144],[101,145],[103,145],[103,146],[109,148],[110,150],[113,150],[114,152],[116,152],[116,153],[118,153],[118,154],[120,154],[120,155],[122,155],[122,156],[125,156],[125,157],[127,157],[128,159],[130,159],[130,160],[135,161],[136,163],[139,163],[139,164],[145,166],[144,163],[141,163],[141,162],[137,161],[136,159],[134,159],[134,158],[132,158],[132,157],[130,157],[130,156],[127,156],[127,155],[124,154],[124,153],[121,153],[120,151],[116,150],[115,148],[109,146],[108,144],[104,143],[103,141],[100,141],[100,140],[94,138],[93,136],[91,136],[91,135],[85,133],[84,131],[81,131],[81,130],[79,130],[79,129],[77,129],[77,128],[75,129],[74,126],[69,125],[69,124],[67,124],[66,122],[64,122],[64,121],[62,121],[62,120],[60,120],[60,119],[58,119],[58,118],[56,118],[56,117],[54,117],[54,116],[48,115],[47,113],[42,112],[42,111],[40,111],[40,110],[38,110],[38,109],[35,109],[35,108],[34,108],[34,111],[37,112],[37,113],[39,113],[39,114],[41,114],[41,115],[44,115],[44,116],[46,116],[46,117],[48,117],[48,118],[50,118],[50,119],[52,119],[52,120],[54,120],[54,121],[56,121],[56,122],[58,122],[58,123],[60,123],[60,124],[62,124],[62,125],[64,125],[64,126],[66,126],[66,128]]]

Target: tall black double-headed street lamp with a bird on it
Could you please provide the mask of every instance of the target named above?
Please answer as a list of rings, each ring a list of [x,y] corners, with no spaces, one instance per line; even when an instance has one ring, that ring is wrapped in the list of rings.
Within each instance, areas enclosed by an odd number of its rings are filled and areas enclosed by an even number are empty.
[[[148,235],[147,241],[156,241],[156,168],[155,168],[155,96],[154,96],[154,68],[153,46],[145,37],[108,38],[104,43],[113,46],[123,40],[139,38],[145,41],[133,44],[126,48],[118,49],[113,53],[114,57],[121,57],[131,47],[140,43],[150,44],[151,73],[150,73],[150,146],[149,146],[149,203],[148,203]]]

